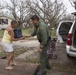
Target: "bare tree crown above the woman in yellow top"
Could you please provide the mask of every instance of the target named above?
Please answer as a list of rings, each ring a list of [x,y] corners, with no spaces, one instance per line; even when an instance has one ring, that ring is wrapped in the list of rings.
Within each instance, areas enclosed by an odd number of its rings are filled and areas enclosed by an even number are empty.
[[[2,7],[9,10],[14,19],[22,25],[24,22],[28,22],[30,16],[26,2],[26,0],[10,0],[10,3],[4,2],[5,6]]]

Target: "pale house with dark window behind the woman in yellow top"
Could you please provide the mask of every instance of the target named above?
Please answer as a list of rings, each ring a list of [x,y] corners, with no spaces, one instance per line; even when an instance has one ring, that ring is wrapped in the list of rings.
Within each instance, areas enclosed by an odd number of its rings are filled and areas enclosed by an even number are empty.
[[[13,17],[5,14],[0,14],[0,30],[5,29],[8,25],[10,25]]]

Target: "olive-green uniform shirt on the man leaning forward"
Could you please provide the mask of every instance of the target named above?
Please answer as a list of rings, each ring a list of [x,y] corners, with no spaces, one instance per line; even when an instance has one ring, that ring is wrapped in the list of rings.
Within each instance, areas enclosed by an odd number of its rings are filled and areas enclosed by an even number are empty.
[[[34,26],[34,32],[31,35],[37,35],[37,39],[40,44],[42,46],[46,45],[50,36],[48,26],[45,23],[39,21],[38,24]]]

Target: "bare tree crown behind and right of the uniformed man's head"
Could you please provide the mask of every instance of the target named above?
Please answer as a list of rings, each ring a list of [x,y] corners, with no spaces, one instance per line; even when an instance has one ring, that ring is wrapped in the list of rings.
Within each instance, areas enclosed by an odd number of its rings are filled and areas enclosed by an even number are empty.
[[[63,3],[57,0],[29,0],[28,5],[31,12],[39,15],[50,26],[57,25],[66,12]]]

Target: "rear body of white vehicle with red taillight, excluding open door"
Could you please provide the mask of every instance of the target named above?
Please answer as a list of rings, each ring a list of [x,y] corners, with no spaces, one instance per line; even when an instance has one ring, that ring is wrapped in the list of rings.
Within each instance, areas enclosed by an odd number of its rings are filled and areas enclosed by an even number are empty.
[[[67,36],[66,52],[68,56],[76,57],[76,22],[74,21]]]

